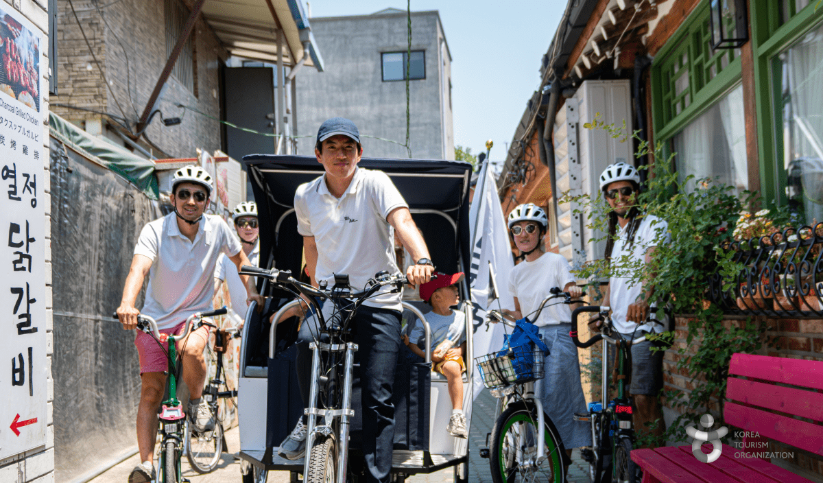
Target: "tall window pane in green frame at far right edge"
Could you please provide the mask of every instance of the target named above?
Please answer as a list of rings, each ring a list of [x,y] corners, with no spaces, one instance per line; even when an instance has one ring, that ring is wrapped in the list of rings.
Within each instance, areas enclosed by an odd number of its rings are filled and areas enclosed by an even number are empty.
[[[823,221],[823,26],[779,55],[789,207]]]

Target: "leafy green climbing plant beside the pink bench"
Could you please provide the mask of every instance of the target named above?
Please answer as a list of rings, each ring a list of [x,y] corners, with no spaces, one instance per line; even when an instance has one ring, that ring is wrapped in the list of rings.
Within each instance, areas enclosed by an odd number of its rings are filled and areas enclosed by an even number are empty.
[[[597,118],[585,128],[602,129],[613,138],[628,140],[625,124],[622,127],[606,125]],[[633,134],[637,137],[637,132]],[[656,160],[649,170],[649,179],[641,193],[635,194],[635,206],[640,216],[658,216],[667,222],[667,230],[658,230],[651,259],[644,267],[642,261],[613,258],[591,261],[573,271],[580,278],[597,281],[607,276],[628,276],[642,281],[644,289],[654,287],[656,297],[666,299],[676,314],[689,314],[686,344],[677,351],[677,372],[688,374],[695,389],[665,392],[670,406],[683,412],[667,428],[663,438],[685,440],[686,425],[695,425],[707,412],[719,416],[723,424],[722,404],[728,377],[728,365],[735,352],[751,353],[766,342],[762,323],[747,322],[744,327],[723,324],[723,311],[709,304],[709,278],[715,273],[723,278],[724,286],[733,286],[734,277],[742,270],[732,250],[725,249],[732,239],[732,231],[744,207],[756,202],[755,193],[735,193],[734,188],[716,179],[682,177],[672,170],[673,154],[666,158],[660,144],[649,146],[639,140],[638,158],[653,152]],[[695,186],[687,190],[686,186]],[[566,195],[561,203],[576,202],[576,213],[586,216],[588,227],[607,234],[608,213],[611,211],[604,197]],[[600,239],[605,239],[603,235]],[[596,239],[597,241],[599,239]],[[680,336],[681,337],[681,336]],[[656,338],[669,346],[676,338],[664,332]],[[685,372],[683,372],[685,369]],[[665,441],[664,439],[664,441]]]

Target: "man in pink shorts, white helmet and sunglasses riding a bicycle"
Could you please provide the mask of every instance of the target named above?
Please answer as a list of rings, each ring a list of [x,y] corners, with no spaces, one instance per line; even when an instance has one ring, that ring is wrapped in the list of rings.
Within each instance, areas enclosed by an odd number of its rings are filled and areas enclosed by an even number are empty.
[[[185,166],[174,173],[170,202],[174,212],[143,227],[134,248],[132,266],[123,288],[117,315],[123,328],[137,327],[137,315],[143,313],[157,321],[160,332],[181,333],[184,322],[193,313],[212,310],[214,282],[212,276],[221,253],[226,253],[235,267],[249,264],[239,241],[226,222],[216,215],[204,215],[212,194],[212,177],[199,166]],[[142,311],[134,307],[143,281],[149,277]],[[242,276],[249,301],[258,304],[258,295],[248,276]],[[202,388],[206,378],[206,361],[202,352],[208,339],[208,327],[189,333],[177,343],[183,361],[183,379],[191,399],[188,417],[198,432],[214,427]],[[142,463],[128,477],[129,483],[148,483],[155,477],[153,453],[157,436],[157,408],[165,392],[164,371],[169,367],[165,345],[151,336],[137,332],[134,341],[140,355],[141,391],[137,407],[137,447]]]

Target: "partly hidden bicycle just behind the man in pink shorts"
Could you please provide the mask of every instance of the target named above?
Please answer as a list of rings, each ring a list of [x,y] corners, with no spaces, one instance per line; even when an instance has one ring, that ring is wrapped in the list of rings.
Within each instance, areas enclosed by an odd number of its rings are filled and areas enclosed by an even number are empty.
[[[198,433],[193,431],[192,425],[186,425],[184,448],[186,459],[194,471],[200,474],[209,473],[215,470],[220,462],[221,453],[227,451],[226,442],[223,439],[223,424],[219,417],[218,402],[220,399],[237,397],[237,390],[229,390],[226,381],[221,379],[221,373],[225,374],[223,368],[223,354],[230,337],[240,337],[235,327],[221,329],[212,323],[202,323],[215,328],[214,352],[216,354],[216,372],[214,377],[203,387],[202,398],[208,403],[212,418],[215,420],[213,430]],[[221,388],[226,388],[221,391]],[[234,401],[234,399],[232,399]],[[237,407],[237,403],[234,402]]]

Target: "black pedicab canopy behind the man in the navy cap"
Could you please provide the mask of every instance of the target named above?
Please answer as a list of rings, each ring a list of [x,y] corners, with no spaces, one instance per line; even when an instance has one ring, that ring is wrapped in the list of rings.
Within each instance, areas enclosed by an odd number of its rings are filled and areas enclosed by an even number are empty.
[[[323,174],[314,156],[249,155],[243,158],[258,204],[260,265],[300,273],[303,237],[297,233],[295,191]],[[468,272],[469,185],[463,161],[363,158],[360,168],[388,174],[406,199],[439,272]],[[466,294],[468,295],[468,294]]]

